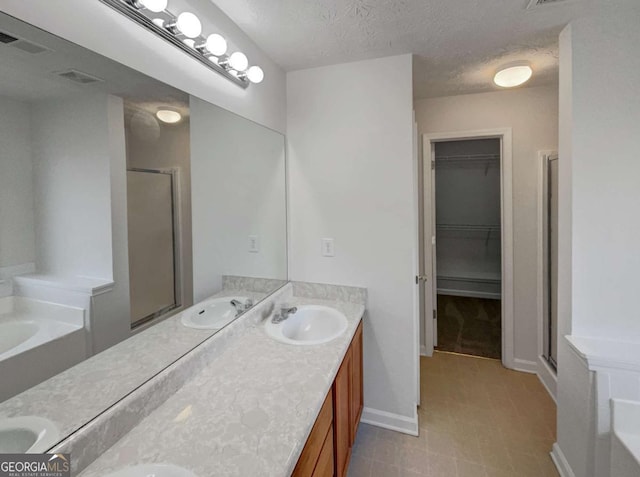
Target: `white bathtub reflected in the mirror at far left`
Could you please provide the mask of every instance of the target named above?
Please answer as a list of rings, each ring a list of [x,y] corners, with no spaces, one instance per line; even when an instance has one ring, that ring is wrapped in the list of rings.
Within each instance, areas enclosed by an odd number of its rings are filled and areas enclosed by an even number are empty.
[[[0,402],[86,358],[84,310],[0,298]]]

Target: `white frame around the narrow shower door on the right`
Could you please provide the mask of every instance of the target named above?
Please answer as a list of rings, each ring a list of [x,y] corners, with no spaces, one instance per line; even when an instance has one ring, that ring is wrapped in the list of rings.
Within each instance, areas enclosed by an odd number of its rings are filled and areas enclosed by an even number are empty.
[[[547,160],[557,156],[557,150],[538,151],[538,376],[551,397],[556,399],[557,373],[544,357],[544,317],[548,311],[545,279],[547,275]]]

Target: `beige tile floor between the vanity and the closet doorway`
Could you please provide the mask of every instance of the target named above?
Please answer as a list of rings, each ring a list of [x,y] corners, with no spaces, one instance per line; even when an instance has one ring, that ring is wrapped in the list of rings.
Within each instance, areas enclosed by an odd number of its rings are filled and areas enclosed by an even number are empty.
[[[360,424],[350,477],[557,477],[556,407],[535,375],[436,352],[421,359],[420,437]]]

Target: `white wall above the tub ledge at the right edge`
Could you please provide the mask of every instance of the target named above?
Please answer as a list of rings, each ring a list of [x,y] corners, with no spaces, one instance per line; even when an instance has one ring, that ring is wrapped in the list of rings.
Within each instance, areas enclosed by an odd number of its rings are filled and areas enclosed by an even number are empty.
[[[563,139],[572,148],[575,335],[640,339],[639,20],[607,16],[571,26],[573,127]]]

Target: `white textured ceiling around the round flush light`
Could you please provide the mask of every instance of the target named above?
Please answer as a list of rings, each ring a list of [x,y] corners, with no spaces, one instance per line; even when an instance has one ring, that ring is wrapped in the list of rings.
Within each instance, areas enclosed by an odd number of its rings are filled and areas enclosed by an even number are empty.
[[[557,83],[558,33],[638,0],[213,0],[288,71],[415,54],[414,96],[491,91],[496,68],[528,60],[529,85]]]

